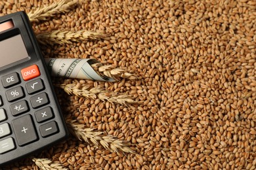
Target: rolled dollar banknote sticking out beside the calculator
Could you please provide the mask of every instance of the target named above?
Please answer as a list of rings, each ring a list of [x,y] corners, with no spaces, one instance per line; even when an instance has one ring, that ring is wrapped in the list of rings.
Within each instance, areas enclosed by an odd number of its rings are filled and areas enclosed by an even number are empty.
[[[52,76],[108,82],[116,81],[114,78],[100,76],[96,73],[91,67],[91,64],[98,63],[96,59],[45,58],[45,62]]]

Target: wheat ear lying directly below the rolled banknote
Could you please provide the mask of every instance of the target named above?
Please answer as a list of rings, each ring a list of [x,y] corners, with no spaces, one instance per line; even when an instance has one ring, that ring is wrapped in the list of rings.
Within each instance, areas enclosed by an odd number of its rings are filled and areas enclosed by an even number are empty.
[[[80,83],[72,84],[54,84],[57,87],[64,89],[64,92],[69,95],[74,94],[78,97],[87,97],[91,99],[100,99],[101,101],[109,101],[110,103],[119,103],[120,105],[127,105],[127,103],[137,103],[131,99],[132,95],[119,95],[118,93],[109,90],[102,90],[100,88],[92,88],[91,86],[81,85]]]

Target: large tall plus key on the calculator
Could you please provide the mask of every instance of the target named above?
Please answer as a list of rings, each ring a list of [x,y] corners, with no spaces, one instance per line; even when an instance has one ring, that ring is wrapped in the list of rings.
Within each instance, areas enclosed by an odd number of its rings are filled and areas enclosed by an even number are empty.
[[[30,114],[12,120],[12,126],[19,146],[24,146],[37,140],[37,133]]]

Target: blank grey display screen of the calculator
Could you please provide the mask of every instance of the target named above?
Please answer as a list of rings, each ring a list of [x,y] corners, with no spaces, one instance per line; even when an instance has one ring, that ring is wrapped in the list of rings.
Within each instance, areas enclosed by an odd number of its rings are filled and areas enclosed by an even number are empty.
[[[28,58],[21,35],[0,41],[0,67]]]

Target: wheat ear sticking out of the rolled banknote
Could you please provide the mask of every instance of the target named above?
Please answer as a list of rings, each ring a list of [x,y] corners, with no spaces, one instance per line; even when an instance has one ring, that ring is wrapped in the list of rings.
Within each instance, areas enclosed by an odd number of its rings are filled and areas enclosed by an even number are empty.
[[[115,80],[119,80],[119,78],[128,78],[130,80],[137,80],[137,76],[131,73],[127,73],[127,71],[119,68],[114,68],[113,65],[102,65],[102,63],[94,63],[91,65],[93,69],[100,76],[108,76],[110,78],[114,78]]]

